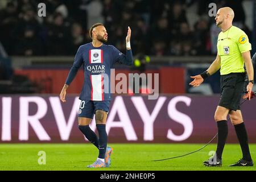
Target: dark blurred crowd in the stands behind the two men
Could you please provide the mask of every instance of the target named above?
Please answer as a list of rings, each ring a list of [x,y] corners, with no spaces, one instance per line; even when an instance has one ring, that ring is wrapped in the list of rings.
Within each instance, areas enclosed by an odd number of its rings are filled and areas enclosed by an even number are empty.
[[[46,17],[38,16],[38,3],[46,4]],[[213,55],[220,30],[208,5],[230,6],[234,24],[250,37],[242,0],[1,0],[0,43],[9,55],[75,55],[90,42],[89,28],[101,22],[108,44],[125,51],[127,26],[133,52],[147,55]],[[191,24],[188,9],[196,3],[198,20]]]

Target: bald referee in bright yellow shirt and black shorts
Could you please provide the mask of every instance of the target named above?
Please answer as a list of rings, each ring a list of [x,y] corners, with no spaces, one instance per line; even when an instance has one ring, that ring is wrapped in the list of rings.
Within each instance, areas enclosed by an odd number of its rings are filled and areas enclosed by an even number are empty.
[[[244,64],[249,78],[249,84],[246,87],[249,100],[254,84],[254,71],[250,56],[251,44],[245,32],[232,25],[233,18],[234,11],[230,7],[223,7],[217,11],[216,25],[221,28],[218,35],[217,57],[207,71],[200,75],[191,76],[194,80],[190,85],[199,86],[205,78],[220,69],[221,97],[214,114],[218,127],[217,150],[212,158],[204,162],[205,166],[222,166],[222,151],[228,137],[228,114],[236,130],[243,154],[242,159],[230,166],[253,166],[247,132],[240,110],[240,100],[246,76]]]

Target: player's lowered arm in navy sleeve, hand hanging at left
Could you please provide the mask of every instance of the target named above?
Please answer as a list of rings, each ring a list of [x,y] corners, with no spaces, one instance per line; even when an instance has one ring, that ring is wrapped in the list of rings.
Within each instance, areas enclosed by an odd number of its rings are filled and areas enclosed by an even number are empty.
[[[82,53],[81,53],[81,47],[79,47],[79,49],[77,50],[76,56],[75,56],[75,61],[73,63],[73,66],[72,66],[71,70],[69,71],[67,80],[60,92],[60,100],[62,102],[66,101],[65,96],[67,94],[68,86],[71,84],[73,79],[76,77],[76,74],[79,71],[79,68],[81,67],[81,65],[82,65]]]

